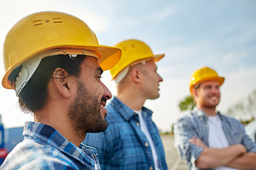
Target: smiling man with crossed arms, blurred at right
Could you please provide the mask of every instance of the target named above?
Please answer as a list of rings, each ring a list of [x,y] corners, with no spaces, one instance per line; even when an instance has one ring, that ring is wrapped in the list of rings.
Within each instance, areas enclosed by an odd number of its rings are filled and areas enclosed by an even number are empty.
[[[216,111],[224,77],[202,67],[190,81],[196,108],[174,125],[175,147],[188,168],[255,169],[255,142],[238,120]]]

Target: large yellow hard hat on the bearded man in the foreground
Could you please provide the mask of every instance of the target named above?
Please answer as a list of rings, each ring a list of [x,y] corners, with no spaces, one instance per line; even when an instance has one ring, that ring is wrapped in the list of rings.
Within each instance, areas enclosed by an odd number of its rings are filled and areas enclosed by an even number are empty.
[[[121,57],[117,47],[99,45],[95,33],[79,18],[57,11],[33,13],[18,21],[6,35],[2,85],[14,89],[8,77],[16,67],[48,50],[67,47],[94,51],[103,70],[112,68]]]

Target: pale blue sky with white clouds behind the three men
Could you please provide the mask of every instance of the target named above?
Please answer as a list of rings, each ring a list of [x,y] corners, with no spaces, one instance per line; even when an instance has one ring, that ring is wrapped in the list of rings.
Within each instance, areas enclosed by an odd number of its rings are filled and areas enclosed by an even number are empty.
[[[196,69],[208,66],[225,77],[218,110],[225,113],[256,89],[256,1],[254,0],[9,0],[0,2],[0,77],[4,76],[3,45],[6,33],[21,18],[38,11],[70,13],[95,32],[101,45],[135,38],[146,42],[155,55],[164,79],[160,97],[144,106],[154,111],[159,130],[184,113],[178,103],[189,95],[188,85]],[[116,94],[110,72],[103,83]],[[129,98],[129,96],[127,96]],[[5,128],[33,120],[18,108],[14,90],[0,86],[0,114]],[[134,100],[134,98],[131,98]],[[242,113],[241,113],[242,116]]]

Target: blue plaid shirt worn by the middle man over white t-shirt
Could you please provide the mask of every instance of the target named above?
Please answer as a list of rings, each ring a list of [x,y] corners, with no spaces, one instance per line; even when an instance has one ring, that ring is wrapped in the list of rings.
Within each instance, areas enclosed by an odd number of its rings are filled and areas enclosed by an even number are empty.
[[[105,132],[88,133],[86,145],[97,149],[102,169],[154,169],[154,160],[146,135],[139,125],[139,116],[117,98],[106,106],[108,128]],[[142,108],[142,115],[156,147],[161,169],[167,169],[159,130],[151,120],[152,112]]]

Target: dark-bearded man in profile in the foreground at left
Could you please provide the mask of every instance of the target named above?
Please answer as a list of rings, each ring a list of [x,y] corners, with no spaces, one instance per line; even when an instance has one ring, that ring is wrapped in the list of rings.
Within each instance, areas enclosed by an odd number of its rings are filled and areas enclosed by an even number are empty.
[[[121,50],[99,45],[75,16],[46,11],[18,21],[6,35],[2,85],[15,89],[20,108],[33,113],[23,142],[1,169],[100,169],[95,148],[80,144],[87,132],[107,128],[112,94],[100,80]]]

